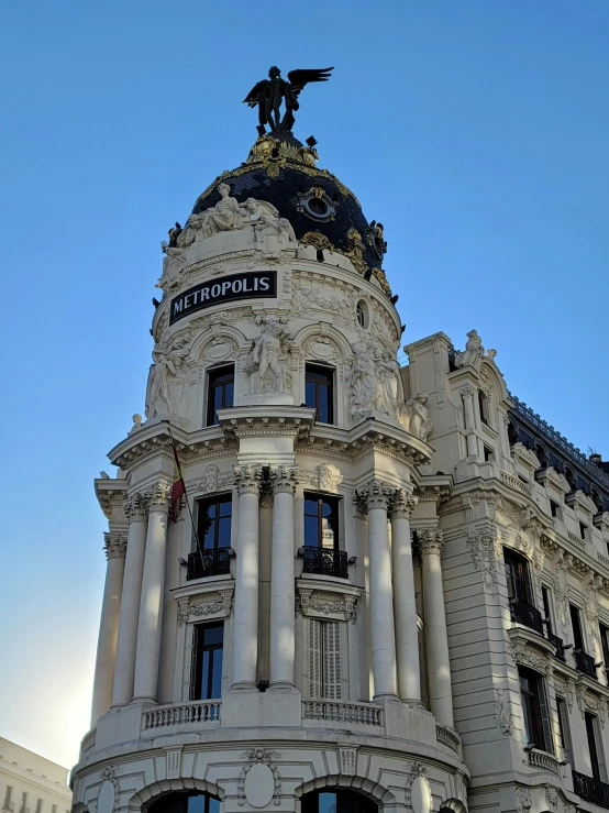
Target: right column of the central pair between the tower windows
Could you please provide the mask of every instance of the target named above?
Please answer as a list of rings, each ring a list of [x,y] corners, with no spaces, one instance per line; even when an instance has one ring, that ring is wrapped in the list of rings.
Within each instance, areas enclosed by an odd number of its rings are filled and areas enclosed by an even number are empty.
[[[296,466],[270,471],[273,485],[273,549],[270,562],[270,688],[294,686],[295,569],[294,494]]]

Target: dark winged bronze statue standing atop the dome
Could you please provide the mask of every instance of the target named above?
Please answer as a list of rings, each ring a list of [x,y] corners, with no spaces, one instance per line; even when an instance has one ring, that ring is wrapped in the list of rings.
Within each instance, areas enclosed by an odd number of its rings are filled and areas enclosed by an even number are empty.
[[[258,81],[243,100],[251,108],[258,106],[258,133],[264,135],[266,124],[270,130],[291,132],[294,111],[300,107],[298,95],[310,81],[328,81],[334,68],[297,68],[288,74],[288,81],[281,79],[281,72],[275,65],[268,72],[268,79]],[[281,102],[286,112],[281,119]]]

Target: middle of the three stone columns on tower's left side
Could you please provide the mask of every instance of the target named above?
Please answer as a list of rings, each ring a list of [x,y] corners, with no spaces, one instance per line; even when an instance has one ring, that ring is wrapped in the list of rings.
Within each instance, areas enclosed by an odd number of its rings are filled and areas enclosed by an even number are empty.
[[[146,524],[148,505],[145,494],[130,495],[123,503],[129,519],[129,536],[121,596],[119,638],[114,661],[114,682],[112,705],[125,705],[133,697],[133,677],[135,674],[135,645],[137,642],[137,622],[142,595],[142,573],[144,572],[144,551],[146,548]]]

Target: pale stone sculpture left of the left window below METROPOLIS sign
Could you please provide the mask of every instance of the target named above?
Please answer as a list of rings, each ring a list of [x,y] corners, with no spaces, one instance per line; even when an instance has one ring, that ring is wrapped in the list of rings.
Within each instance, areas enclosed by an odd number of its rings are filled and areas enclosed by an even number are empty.
[[[157,415],[180,411],[188,375],[186,358],[190,352],[189,341],[189,337],[182,334],[176,337],[168,350],[153,350],[154,364],[148,375],[146,398],[148,419]]]

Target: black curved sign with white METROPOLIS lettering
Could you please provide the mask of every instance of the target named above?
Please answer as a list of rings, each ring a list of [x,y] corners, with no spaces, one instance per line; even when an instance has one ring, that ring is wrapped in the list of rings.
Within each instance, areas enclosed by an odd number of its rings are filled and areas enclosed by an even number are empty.
[[[276,271],[246,271],[196,285],[171,299],[169,325],[196,310],[223,305],[235,299],[261,299],[277,296]]]

